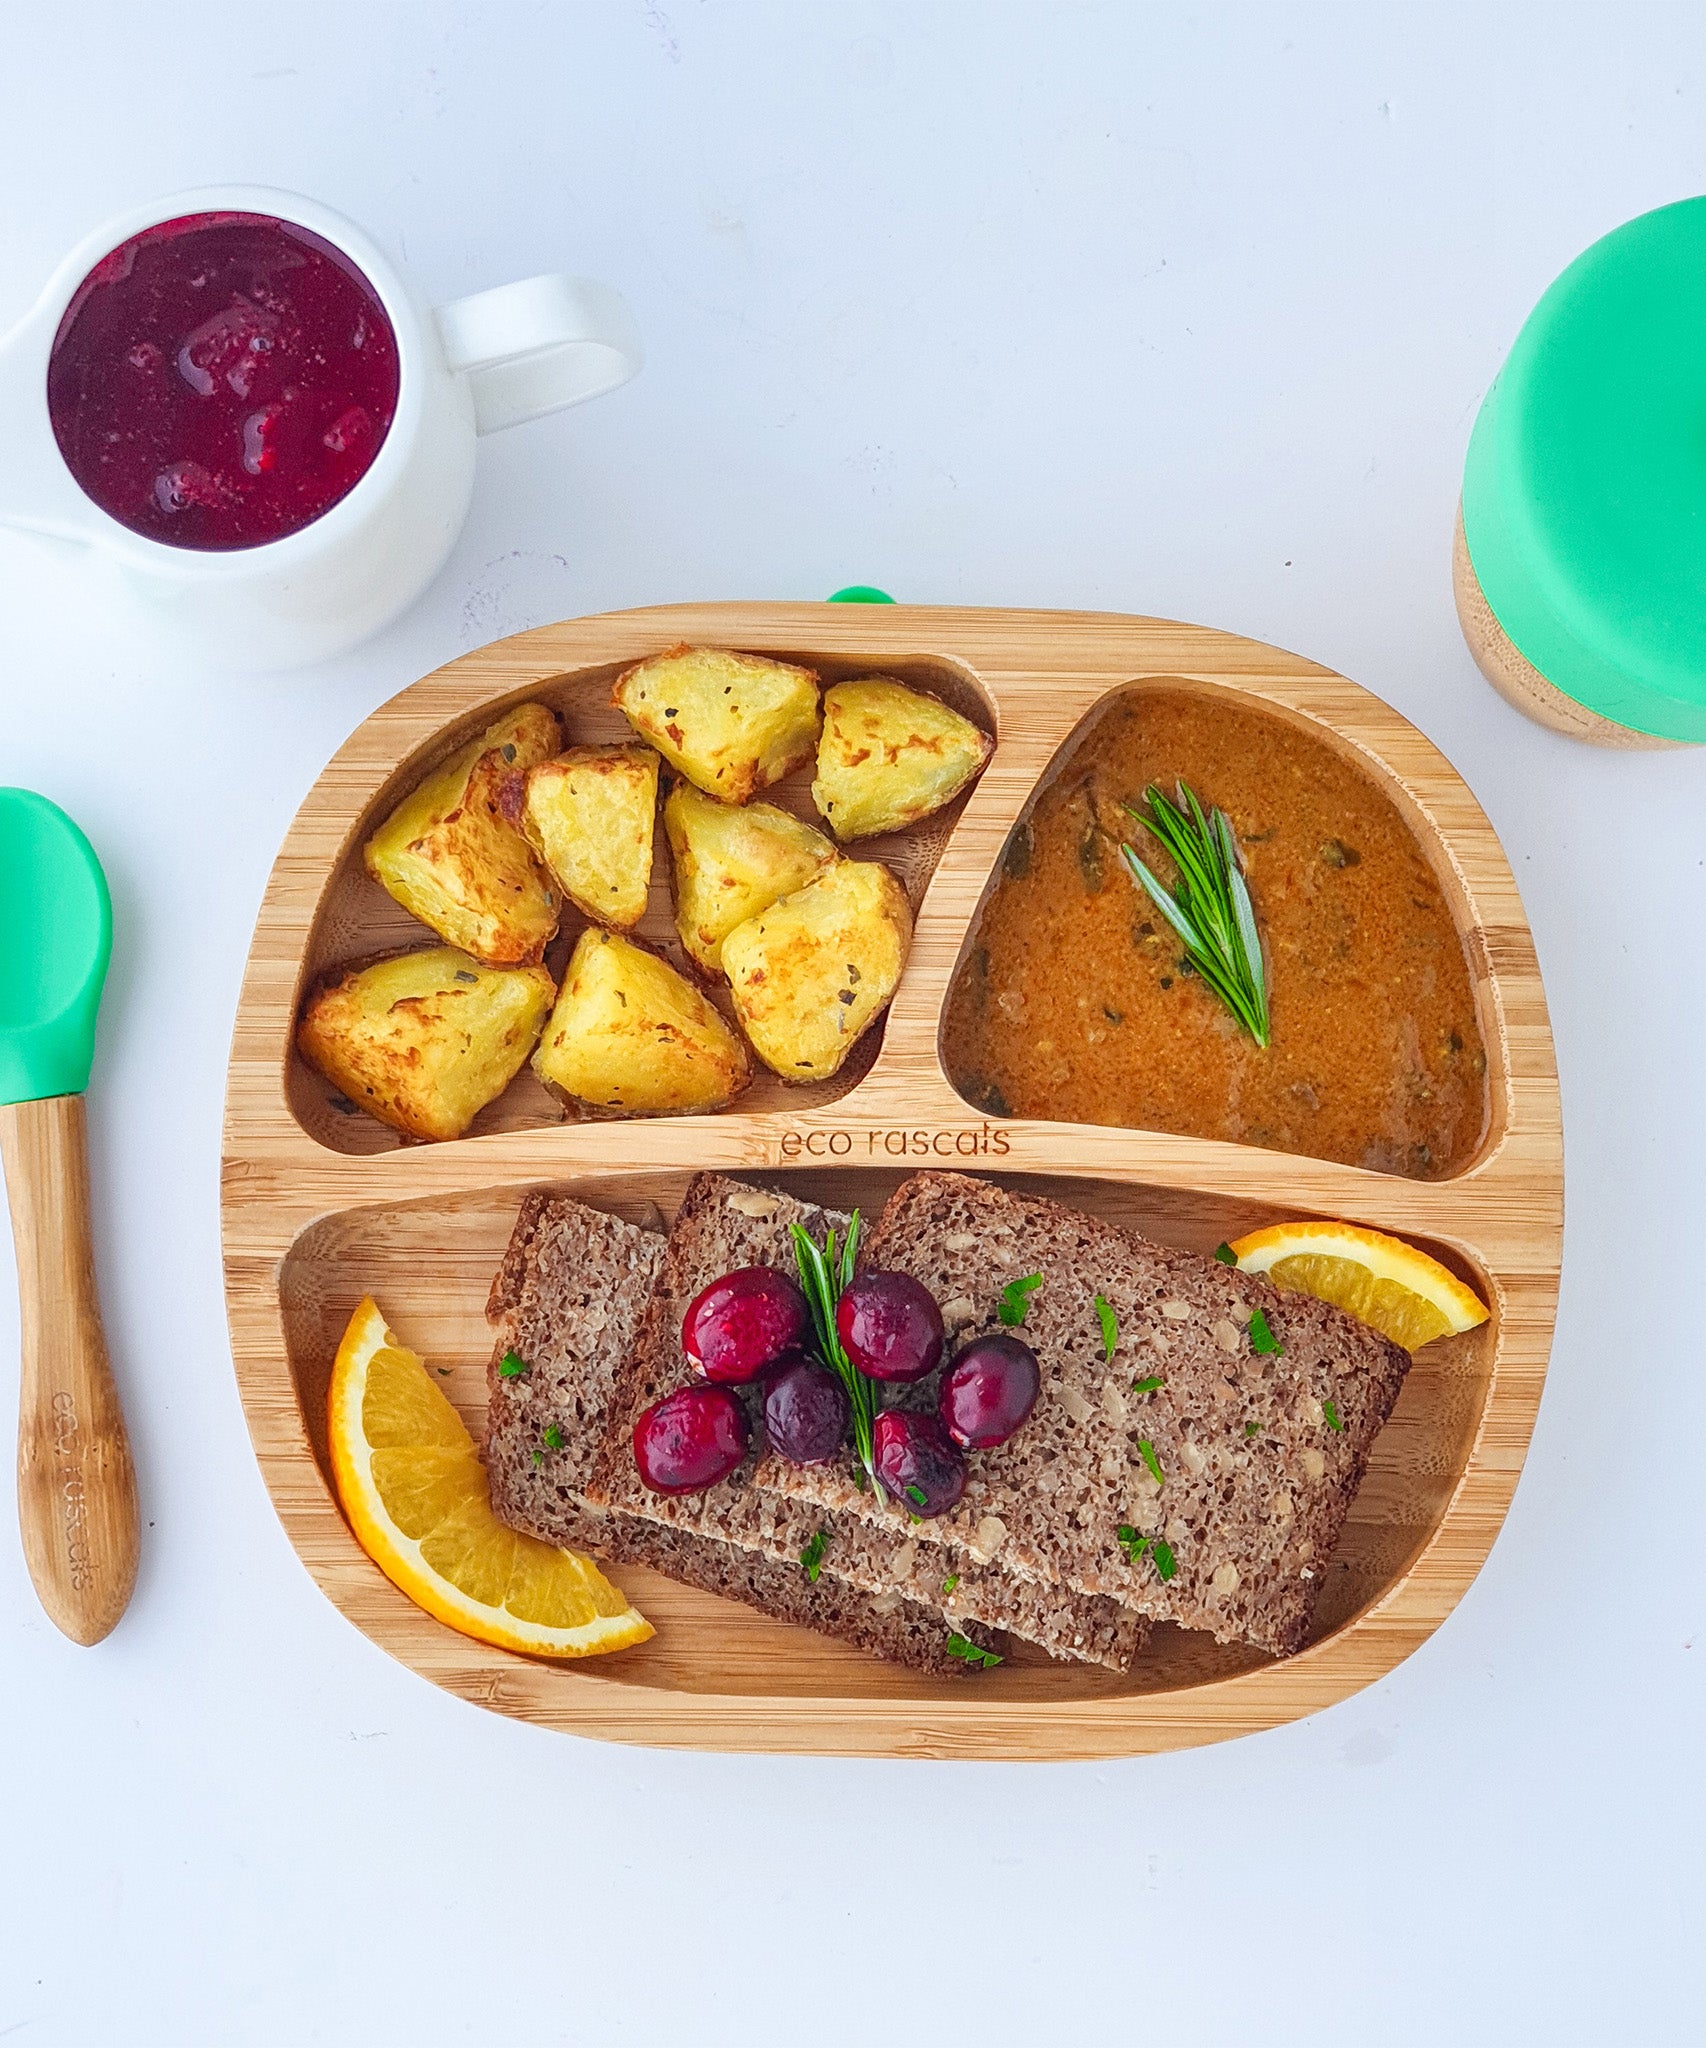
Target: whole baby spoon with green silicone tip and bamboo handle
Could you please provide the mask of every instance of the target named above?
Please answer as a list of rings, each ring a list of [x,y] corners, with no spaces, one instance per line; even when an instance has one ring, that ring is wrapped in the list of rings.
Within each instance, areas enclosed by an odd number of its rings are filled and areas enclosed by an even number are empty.
[[[18,1526],[49,1620],[98,1642],[137,1575],[137,1487],[106,1362],[82,1092],[113,946],[94,848],[0,788],[0,1161],[18,1255]]]

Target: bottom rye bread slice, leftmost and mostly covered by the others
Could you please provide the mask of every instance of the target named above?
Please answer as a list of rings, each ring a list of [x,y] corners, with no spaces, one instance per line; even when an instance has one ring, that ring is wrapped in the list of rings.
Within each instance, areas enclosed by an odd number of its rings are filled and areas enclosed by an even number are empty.
[[[487,1374],[485,1464],[500,1520],[545,1542],[649,1565],[893,1663],[963,1675],[969,1667],[948,1655],[936,1608],[877,1599],[823,1575],[813,1585],[793,1559],[778,1565],[713,1536],[586,1503],[582,1487],[604,1427],[610,1382],[633,1348],[662,1264],[664,1239],[655,1231],[582,1202],[545,1194],[522,1200],[485,1305],[498,1335]],[[500,1372],[510,1352],[524,1372]],[[553,1425],[561,1436],[557,1450],[545,1446]],[[981,1649],[997,1647],[991,1630],[969,1634]]]

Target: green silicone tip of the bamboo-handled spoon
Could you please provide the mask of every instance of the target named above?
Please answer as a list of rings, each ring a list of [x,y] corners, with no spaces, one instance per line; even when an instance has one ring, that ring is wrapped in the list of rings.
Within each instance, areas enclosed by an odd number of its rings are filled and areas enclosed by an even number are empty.
[[[80,1096],[113,950],[94,848],[29,788],[0,788],[0,1102]]]

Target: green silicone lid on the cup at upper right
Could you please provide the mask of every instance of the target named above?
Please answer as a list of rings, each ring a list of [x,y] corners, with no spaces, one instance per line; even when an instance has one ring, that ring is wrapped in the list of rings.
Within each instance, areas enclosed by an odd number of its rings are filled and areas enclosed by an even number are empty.
[[[1550,684],[1706,739],[1706,199],[1595,242],[1528,315],[1475,422],[1462,530]]]

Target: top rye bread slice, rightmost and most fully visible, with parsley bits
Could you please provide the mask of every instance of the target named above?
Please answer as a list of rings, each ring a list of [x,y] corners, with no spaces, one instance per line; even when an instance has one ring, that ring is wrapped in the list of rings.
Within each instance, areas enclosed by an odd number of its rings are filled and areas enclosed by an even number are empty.
[[[922,1280],[954,1348],[1001,1327],[1008,1282],[1042,1274],[1022,1331],[1042,1395],[1008,1444],[973,1458],[963,1505],[922,1526],[948,1559],[999,1548],[1010,1571],[1112,1593],[1221,1642],[1303,1645],[1407,1352],[1327,1303],[963,1174],[897,1188],[860,1264]],[[1114,1313],[1112,1360],[1098,1296]],[[1280,1352],[1255,1350],[1255,1309]],[[1151,1378],[1161,1386],[1135,1391]],[[915,1399],[934,1399],[930,1382]],[[776,1458],[758,1479],[838,1513],[872,1511],[854,1487]],[[1122,1524],[1163,1538],[1176,1577],[1161,1579],[1153,1552],[1128,1559]]]

